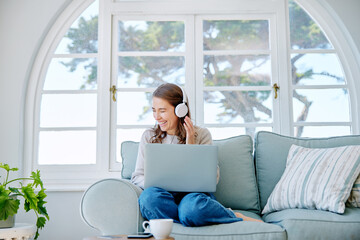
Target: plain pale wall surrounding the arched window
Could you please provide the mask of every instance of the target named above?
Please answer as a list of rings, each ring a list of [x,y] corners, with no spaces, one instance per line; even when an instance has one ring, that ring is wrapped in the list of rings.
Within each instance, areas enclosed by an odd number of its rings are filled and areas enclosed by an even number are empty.
[[[338,14],[360,49],[360,1],[324,1]],[[21,166],[25,93],[31,67],[47,31],[70,2],[0,0],[0,162]],[[48,195],[51,221],[40,232],[40,239],[79,240],[96,235],[80,219],[82,192],[49,192]],[[34,216],[21,212],[17,221],[33,222]]]

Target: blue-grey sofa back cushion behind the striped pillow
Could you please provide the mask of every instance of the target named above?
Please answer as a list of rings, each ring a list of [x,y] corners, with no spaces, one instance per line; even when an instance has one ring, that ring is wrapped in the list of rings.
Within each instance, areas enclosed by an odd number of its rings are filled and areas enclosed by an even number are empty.
[[[287,155],[292,144],[308,148],[360,145],[360,135],[295,138],[272,132],[258,132],[255,138],[255,166],[262,209],[285,170]]]

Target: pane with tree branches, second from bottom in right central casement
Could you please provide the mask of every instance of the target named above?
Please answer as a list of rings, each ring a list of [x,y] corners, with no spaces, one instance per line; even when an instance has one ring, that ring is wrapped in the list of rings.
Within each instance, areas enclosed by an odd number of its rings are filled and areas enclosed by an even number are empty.
[[[205,123],[272,122],[271,91],[204,92]]]

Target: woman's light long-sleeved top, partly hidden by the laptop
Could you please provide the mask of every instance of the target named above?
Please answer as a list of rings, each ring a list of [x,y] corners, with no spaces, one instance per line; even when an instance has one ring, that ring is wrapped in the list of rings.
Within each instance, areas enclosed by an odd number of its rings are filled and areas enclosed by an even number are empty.
[[[195,138],[195,144],[205,144],[212,145],[212,137],[211,133],[207,128],[201,128],[195,126],[195,131],[197,136]],[[138,185],[141,188],[144,188],[144,152],[145,152],[145,144],[151,143],[150,139],[155,135],[153,129],[147,129],[143,133],[140,144],[139,151],[136,160],[135,171],[131,176],[131,182]],[[166,137],[162,140],[162,144],[178,144],[179,140],[175,135],[166,135]],[[218,180],[219,180],[219,168],[218,168]]]

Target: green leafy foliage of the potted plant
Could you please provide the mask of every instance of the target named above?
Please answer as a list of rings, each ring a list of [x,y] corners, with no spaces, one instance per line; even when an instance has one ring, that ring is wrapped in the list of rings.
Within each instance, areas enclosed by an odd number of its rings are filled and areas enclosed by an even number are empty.
[[[9,173],[17,171],[18,168],[10,168],[8,164],[0,163],[0,170],[5,170],[6,175],[4,179],[3,174],[0,175],[0,222],[7,221],[9,218],[14,219],[20,207],[19,197],[24,198],[24,209],[26,212],[33,210],[37,216],[36,220],[36,234],[35,238],[39,237],[39,229],[45,226],[49,215],[47,213],[44,199],[46,198],[43,182],[40,179],[40,171],[32,172],[28,178],[16,178],[9,180]],[[23,181],[27,184],[23,184]],[[1,183],[2,182],[2,183]],[[40,190],[36,189],[40,187]],[[12,226],[14,226],[14,221]]]

